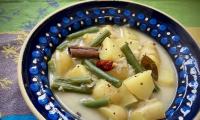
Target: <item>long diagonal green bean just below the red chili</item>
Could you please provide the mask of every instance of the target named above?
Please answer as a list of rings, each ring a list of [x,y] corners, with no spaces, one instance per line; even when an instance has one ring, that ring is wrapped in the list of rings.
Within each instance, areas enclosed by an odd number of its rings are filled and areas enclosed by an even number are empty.
[[[92,62],[90,62],[90,60],[87,60],[87,59],[83,60],[83,64],[85,64],[87,66],[87,69],[89,71],[91,71],[91,73],[95,73],[98,77],[105,79],[106,81],[111,83],[113,86],[118,88],[122,85],[121,80],[119,80],[119,79],[107,74],[103,70],[99,69]]]

